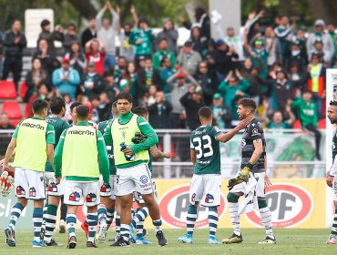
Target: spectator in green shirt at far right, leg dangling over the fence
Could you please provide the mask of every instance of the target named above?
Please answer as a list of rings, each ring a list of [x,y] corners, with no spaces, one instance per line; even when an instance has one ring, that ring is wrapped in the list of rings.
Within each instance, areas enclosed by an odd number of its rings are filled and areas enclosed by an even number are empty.
[[[321,160],[320,145],[321,145],[321,132],[317,128],[318,113],[317,104],[311,99],[312,93],[309,89],[302,92],[301,98],[296,98],[291,103],[291,107],[296,110],[297,116],[300,117],[301,127],[308,129],[315,136],[316,145],[316,158]]]

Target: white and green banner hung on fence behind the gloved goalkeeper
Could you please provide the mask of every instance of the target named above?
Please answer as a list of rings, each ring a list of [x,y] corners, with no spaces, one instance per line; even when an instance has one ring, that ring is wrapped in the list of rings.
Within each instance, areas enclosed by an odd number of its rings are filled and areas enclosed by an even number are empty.
[[[271,130],[270,130],[271,131]],[[322,133],[322,160],[325,160],[325,131]],[[281,161],[314,161],[315,143],[310,133],[299,130],[298,133],[266,132],[265,134],[269,162]],[[241,137],[236,136],[229,142],[220,145],[222,177],[233,178],[238,173],[241,162]],[[330,152],[331,154],[331,152]],[[328,156],[330,154],[327,154]],[[320,165],[308,165],[299,168],[298,165],[269,165],[272,176],[278,179],[315,178],[322,177],[324,169]]]

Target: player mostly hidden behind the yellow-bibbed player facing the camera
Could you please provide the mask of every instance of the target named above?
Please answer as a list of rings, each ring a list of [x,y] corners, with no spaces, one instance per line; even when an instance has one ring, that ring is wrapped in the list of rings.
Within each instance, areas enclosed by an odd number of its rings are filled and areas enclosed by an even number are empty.
[[[148,110],[146,108],[136,107],[132,110],[132,112],[140,117],[144,117],[148,121]],[[171,153],[169,151],[161,152],[158,150],[157,146],[149,148],[148,153],[149,153],[148,169],[151,172],[151,176],[152,176],[152,158],[171,158]],[[156,183],[153,179],[152,185],[155,199],[158,199]],[[145,238],[147,230],[144,229],[144,221],[148,217],[148,207],[146,206],[144,199],[140,194],[138,194],[138,192],[134,193],[134,197],[138,203],[138,209],[136,210],[136,214],[131,220],[131,224],[137,230],[136,244],[151,244],[151,242]]]

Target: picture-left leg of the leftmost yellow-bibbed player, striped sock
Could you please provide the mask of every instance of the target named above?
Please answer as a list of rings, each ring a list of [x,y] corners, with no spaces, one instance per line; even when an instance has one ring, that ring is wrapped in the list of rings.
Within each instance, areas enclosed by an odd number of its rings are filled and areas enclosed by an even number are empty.
[[[19,219],[22,211],[26,208],[28,200],[25,198],[18,198],[17,202],[11,209],[11,217],[8,227],[5,229],[5,242],[10,247],[15,247],[15,224]]]

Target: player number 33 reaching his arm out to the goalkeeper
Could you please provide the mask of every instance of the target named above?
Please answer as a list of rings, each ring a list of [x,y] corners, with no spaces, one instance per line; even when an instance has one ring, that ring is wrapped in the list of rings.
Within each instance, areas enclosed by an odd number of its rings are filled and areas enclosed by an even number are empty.
[[[221,197],[220,142],[227,142],[245,128],[247,120],[224,134],[212,127],[213,116],[209,107],[199,109],[201,126],[190,135],[190,158],[194,165],[194,175],[189,187],[189,211],[187,233],[179,242],[192,243],[193,229],[198,216],[198,205],[209,209],[209,244],[219,244],[215,237],[218,228],[218,207]]]

